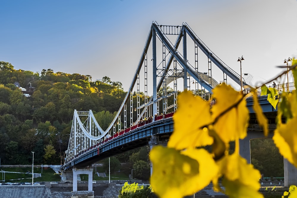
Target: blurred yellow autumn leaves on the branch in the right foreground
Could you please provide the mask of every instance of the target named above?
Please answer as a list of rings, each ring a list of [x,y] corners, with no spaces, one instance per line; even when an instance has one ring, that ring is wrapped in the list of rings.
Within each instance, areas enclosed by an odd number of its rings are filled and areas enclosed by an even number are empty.
[[[297,61],[294,59],[293,65],[293,75],[297,77],[297,69],[294,69]],[[268,94],[268,101],[275,108],[278,91],[264,85],[262,93]],[[254,96],[257,121],[267,135],[268,122],[255,89],[251,88],[247,96]],[[173,117],[174,132],[167,148],[156,146],[150,154],[154,167],[151,185],[156,194],[160,197],[183,197],[203,189],[212,181],[216,191],[230,198],[263,197],[258,191],[260,172],[239,155],[239,139],[247,136],[249,124],[249,110],[244,99],[247,96],[229,85],[219,85],[213,89],[216,104],[211,109],[207,101],[189,92],[178,96],[179,109]],[[290,130],[297,122],[297,92],[283,93],[281,97],[273,140],[279,152],[297,166],[297,138],[295,130]],[[286,118],[285,123],[282,117]],[[229,152],[231,141],[235,142],[232,154]],[[211,145],[211,152],[203,148],[206,145]],[[220,188],[219,180],[225,189]]]

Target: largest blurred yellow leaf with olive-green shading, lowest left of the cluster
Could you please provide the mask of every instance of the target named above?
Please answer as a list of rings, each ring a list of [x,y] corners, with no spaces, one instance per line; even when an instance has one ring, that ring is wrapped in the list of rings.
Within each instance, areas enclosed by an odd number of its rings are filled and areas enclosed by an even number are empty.
[[[161,198],[193,194],[203,189],[217,175],[218,167],[204,149],[180,152],[156,146],[150,158],[153,164],[151,186]]]

